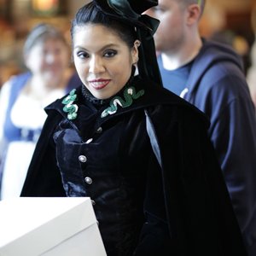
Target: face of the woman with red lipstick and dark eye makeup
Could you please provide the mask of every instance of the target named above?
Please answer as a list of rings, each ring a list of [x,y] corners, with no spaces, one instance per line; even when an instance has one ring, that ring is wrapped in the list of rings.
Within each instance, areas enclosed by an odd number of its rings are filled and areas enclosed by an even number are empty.
[[[98,99],[108,99],[125,86],[137,55],[137,44],[129,48],[106,26],[86,24],[74,30],[75,67],[84,85]]]

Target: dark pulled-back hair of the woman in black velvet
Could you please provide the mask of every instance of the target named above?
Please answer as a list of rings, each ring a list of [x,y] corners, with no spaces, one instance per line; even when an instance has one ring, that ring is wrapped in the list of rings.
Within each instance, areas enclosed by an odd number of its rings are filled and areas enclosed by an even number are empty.
[[[79,9],[71,26],[71,38],[76,27],[84,26],[85,24],[100,24],[113,29],[119,35],[129,48],[132,48],[136,38],[136,30],[134,26],[128,25],[123,20],[119,20],[111,15],[106,15],[96,6],[95,2],[90,2]]]

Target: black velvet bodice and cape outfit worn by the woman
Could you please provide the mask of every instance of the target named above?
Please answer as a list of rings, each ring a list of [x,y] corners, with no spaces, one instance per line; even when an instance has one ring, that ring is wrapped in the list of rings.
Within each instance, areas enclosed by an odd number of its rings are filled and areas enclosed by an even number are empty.
[[[150,81],[132,86],[142,95],[104,117],[109,102],[82,87],[76,119],[62,99],[49,105],[21,196],[90,196],[109,256],[247,255],[204,114]]]

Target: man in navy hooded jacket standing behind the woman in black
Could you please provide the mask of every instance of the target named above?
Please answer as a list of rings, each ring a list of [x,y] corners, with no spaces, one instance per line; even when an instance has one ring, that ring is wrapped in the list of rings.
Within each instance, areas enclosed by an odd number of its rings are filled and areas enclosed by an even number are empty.
[[[148,11],[164,86],[207,113],[211,137],[248,255],[256,255],[256,121],[241,59],[202,39],[205,0],[159,0]]]

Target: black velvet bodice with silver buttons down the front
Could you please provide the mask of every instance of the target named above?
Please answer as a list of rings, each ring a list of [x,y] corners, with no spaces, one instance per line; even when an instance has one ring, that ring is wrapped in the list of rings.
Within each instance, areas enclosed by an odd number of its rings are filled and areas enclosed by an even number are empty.
[[[97,126],[99,109],[109,101],[85,98],[78,119],[63,120],[55,131],[62,183],[67,196],[90,196],[108,255],[131,255],[144,223],[145,153],[150,148],[144,113],[119,115]],[[135,145],[137,137],[141,143]]]

